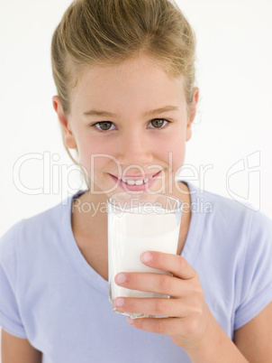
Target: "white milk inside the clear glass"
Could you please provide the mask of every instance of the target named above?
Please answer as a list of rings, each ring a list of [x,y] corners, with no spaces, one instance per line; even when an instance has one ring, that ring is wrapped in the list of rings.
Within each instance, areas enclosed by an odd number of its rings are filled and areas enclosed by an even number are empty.
[[[120,272],[167,274],[143,265],[140,256],[144,251],[176,254],[181,215],[123,213],[118,217],[110,213],[108,217],[110,301],[113,302],[117,296],[167,297],[125,289],[114,283],[114,276]]]

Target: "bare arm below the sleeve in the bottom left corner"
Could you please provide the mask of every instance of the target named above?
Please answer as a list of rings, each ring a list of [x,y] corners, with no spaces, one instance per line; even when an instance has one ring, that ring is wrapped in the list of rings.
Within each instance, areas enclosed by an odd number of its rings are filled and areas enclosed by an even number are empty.
[[[41,351],[26,339],[17,338],[2,330],[2,363],[41,363]]]

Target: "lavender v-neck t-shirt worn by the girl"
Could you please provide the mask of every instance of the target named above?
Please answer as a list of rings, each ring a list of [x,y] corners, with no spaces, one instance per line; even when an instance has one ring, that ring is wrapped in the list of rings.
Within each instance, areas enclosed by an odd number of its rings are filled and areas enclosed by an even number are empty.
[[[193,210],[182,256],[232,339],[272,300],[272,222],[187,184]],[[132,328],[112,312],[108,283],[88,265],[72,232],[76,196],[23,219],[0,239],[0,326],[28,339],[44,362],[190,362],[169,336]]]

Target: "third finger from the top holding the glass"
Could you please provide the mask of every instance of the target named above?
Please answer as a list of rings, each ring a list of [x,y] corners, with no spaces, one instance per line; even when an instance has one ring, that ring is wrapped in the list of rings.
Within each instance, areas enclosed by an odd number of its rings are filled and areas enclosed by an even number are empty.
[[[181,301],[182,300],[182,301]],[[117,297],[113,305],[119,312],[141,312],[153,316],[182,317],[192,312],[188,299],[123,298]]]

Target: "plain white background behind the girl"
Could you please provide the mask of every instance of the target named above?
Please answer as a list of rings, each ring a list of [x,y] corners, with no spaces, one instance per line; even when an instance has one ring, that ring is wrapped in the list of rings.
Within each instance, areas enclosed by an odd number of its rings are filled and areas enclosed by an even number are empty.
[[[62,192],[56,192],[57,168],[71,162],[51,103],[56,91],[50,40],[69,4],[67,0],[9,0],[0,5],[0,236],[20,219],[67,197],[65,182]],[[201,101],[193,138],[187,143],[186,163],[194,165],[195,171],[203,165],[207,172],[204,179],[193,182],[205,190],[249,202],[272,218],[272,3],[179,0],[177,4],[197,37]],[[32,159],[21,168],[23,184],[32,189],[45,187],[44,192],[27,195],[19,191],[13,181],[14,164],[25,154],[42,157],[45,152],[59,154],[58,162],[51,160],[51,165],[45,166],[47,175],[43,176],[42,160]],[[248,156],[249,167],[255,167],[250,173],[239,172]],[[55,191],[52,181],[48,184],[53,166]],[[228,181],[230,169],[238,172]],[[77,176],[76,172],[70,175],[74,189],[80,188]]]

